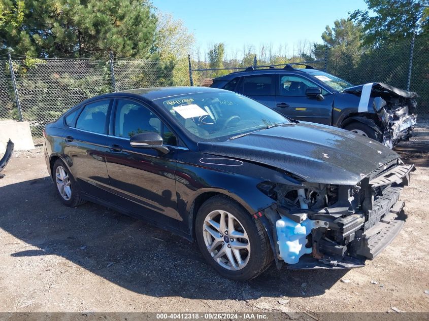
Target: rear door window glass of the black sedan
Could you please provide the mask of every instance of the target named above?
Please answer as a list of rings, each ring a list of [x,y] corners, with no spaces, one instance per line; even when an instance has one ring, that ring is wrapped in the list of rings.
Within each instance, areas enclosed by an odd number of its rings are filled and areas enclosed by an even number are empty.
[[[85,105],[76,122],[76,128],[106,133],[106,118],[110,100],[100,100]]]

